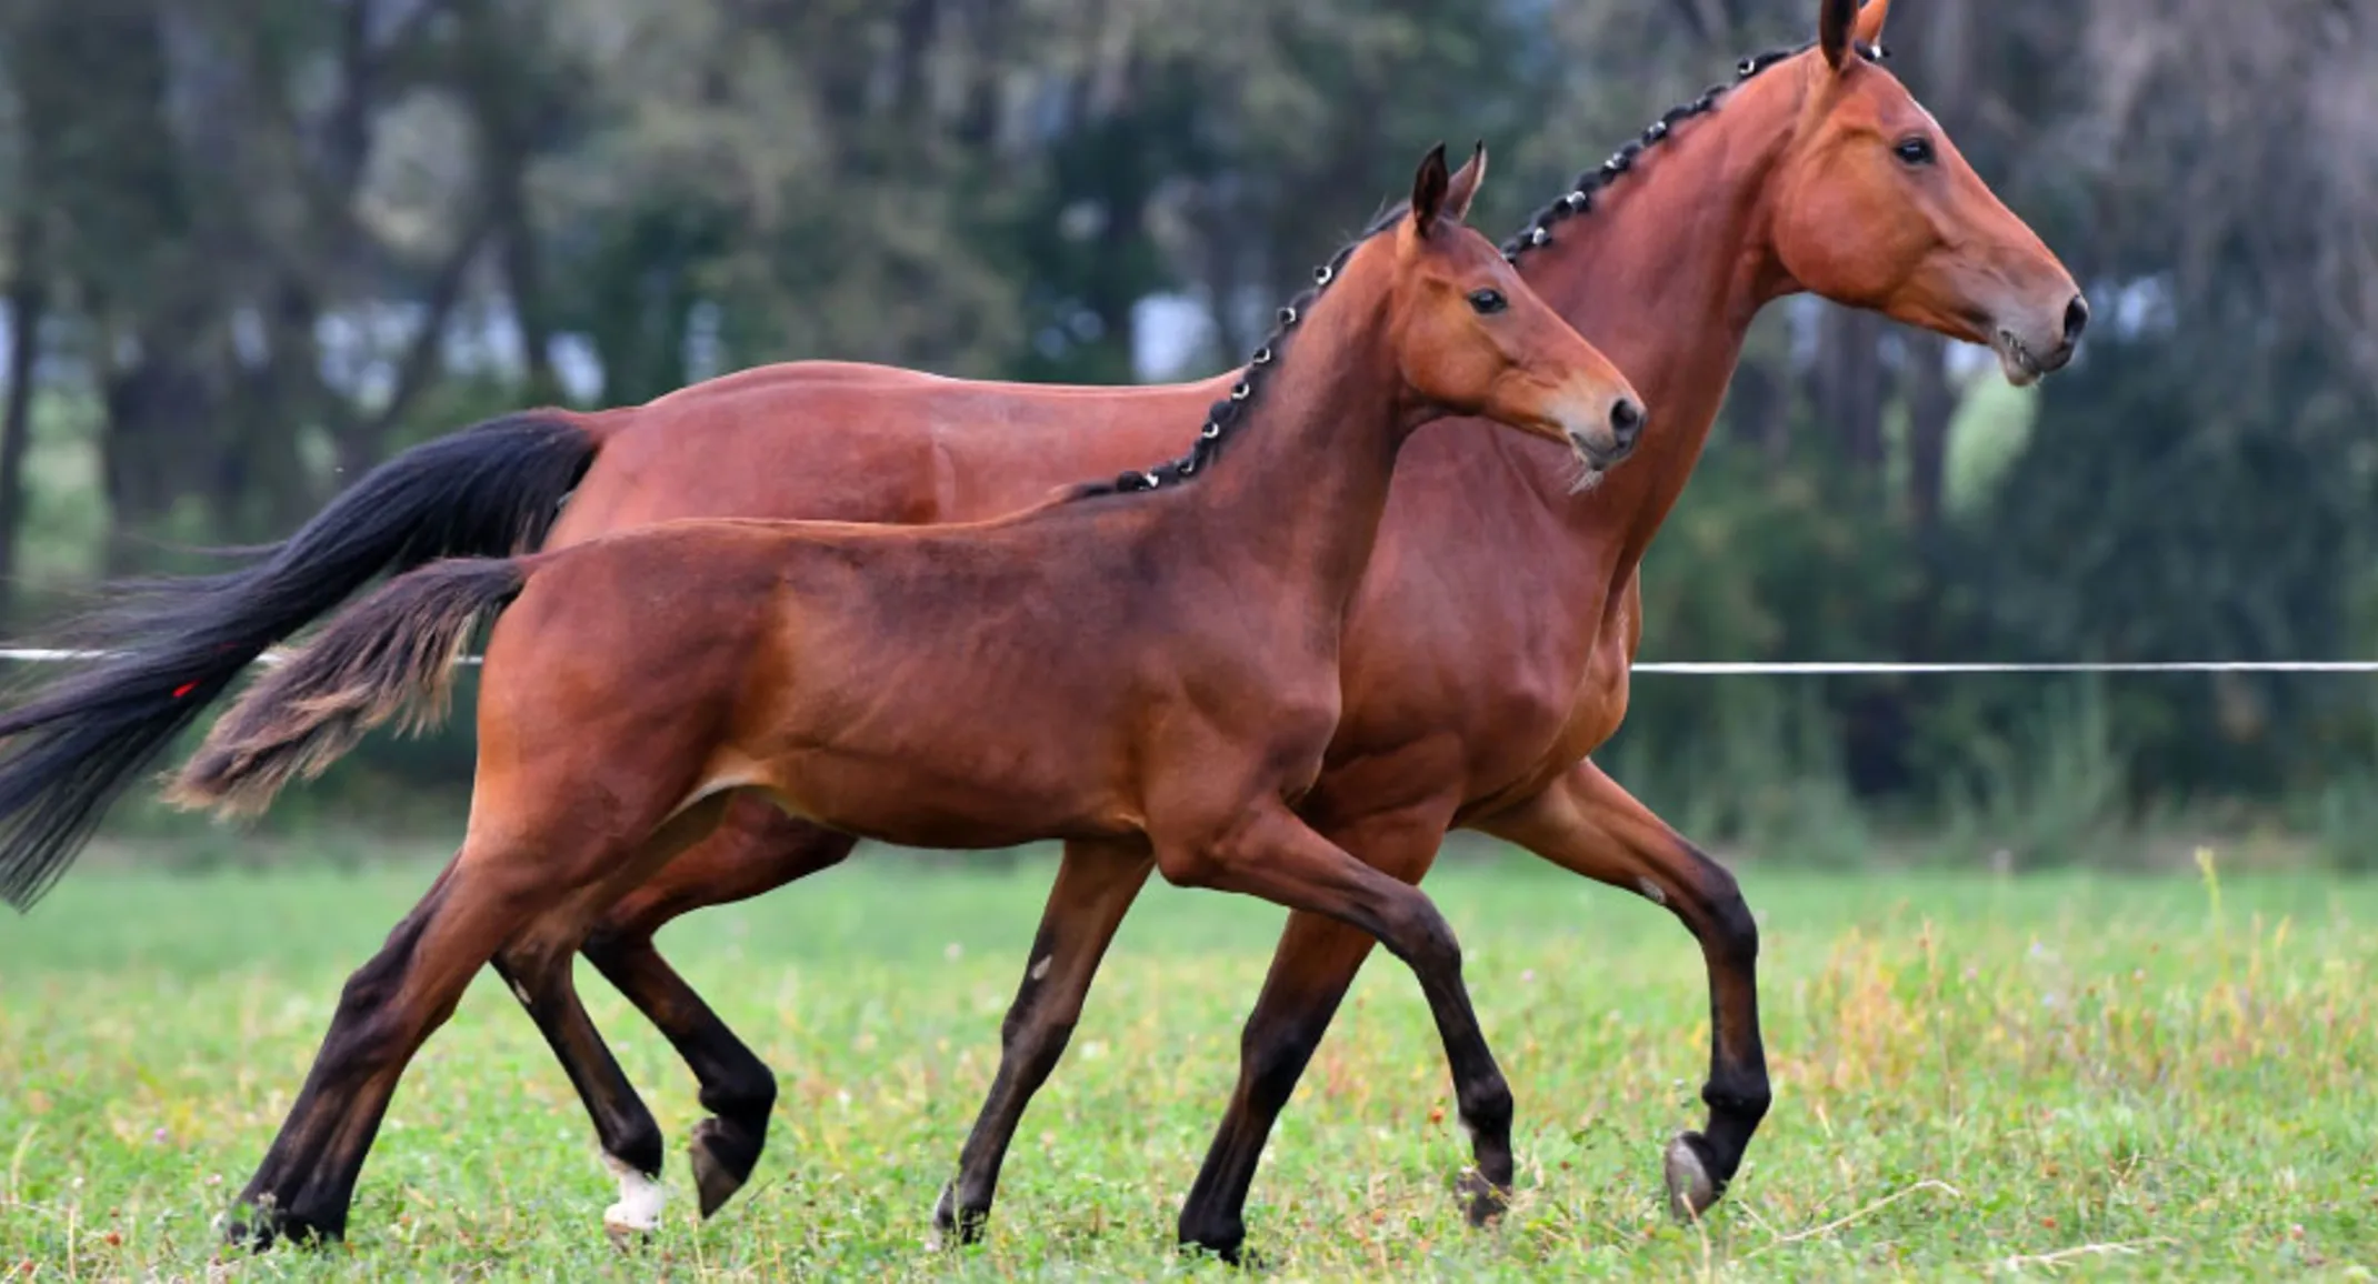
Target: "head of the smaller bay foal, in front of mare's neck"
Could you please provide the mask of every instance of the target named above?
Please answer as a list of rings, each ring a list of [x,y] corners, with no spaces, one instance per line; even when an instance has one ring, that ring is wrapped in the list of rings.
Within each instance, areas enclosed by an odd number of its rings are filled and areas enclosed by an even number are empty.
[[[1458,174],[1446,174],[1439,145],[1420,162],[1394,245],[1374,247],[1396,257],[1389,335],[1403,383],[1432,407],[1567,442],[1589,468],[1608,468],[1643,435],[1643,399],[1462,226],[1484,176],[1484,145]]]

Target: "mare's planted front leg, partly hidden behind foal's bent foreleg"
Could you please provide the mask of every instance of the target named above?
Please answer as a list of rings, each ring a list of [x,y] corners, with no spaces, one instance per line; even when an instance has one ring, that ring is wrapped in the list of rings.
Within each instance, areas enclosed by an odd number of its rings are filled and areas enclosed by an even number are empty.
[[[1417,885],[1436,861],[1451,818],[1451,801],[1424,804],[1325,827],[1325,835],[1374,870]],[[1272,949],[1272,970],[1263,977],[1263,996],[1239,1032],[1239,1082],[1182,1203],[1182,1244],[1239,1260],[1246,1194],[1263,1146],[1372,944],[1377,942],[1367,932],[1336,918],[1306,911],[1289,915],[1279,946]],[[1486,1217],[1493,1208],[1496,1196],[1477,1189],[1472,1217]]]

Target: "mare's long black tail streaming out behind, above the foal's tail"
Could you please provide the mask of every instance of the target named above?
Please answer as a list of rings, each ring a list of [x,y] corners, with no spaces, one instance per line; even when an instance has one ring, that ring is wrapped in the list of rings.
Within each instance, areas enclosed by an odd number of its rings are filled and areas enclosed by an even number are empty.
[[[74,628],[109,659],[0,713],[0,901],[31,908],[133,778],[273,642],[383,573],[537,547],[597,447],[559,414],[492,418],[380,464],[252,566],[117,585],[126,602]]]

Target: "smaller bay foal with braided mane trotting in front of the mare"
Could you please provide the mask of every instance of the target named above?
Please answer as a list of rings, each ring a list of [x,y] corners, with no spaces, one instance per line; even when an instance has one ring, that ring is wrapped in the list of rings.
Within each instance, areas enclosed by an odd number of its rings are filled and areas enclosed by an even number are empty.
[[[694,521],[438,561],[259,678],[181,801],[259,808],[371,725],[428,716],[497,616],[464,846],[347,982],[233,1236],[340,1234],[397,1077],[471,977],[502,949],[554,984],[737,794],[918,846],[1061,837],[1370,932],[1420,977],[1474,1196],[1498,1201],[1510,1094],[1453,932],[1291,811],[1336,728],[1339,630],[1403,440],[1486,416],[1608,466],[1643,426],[1624,378],[1458,224],[1481,169],[1429,152],[1410,209],[1282,311],[1170,466],[977,525]]]

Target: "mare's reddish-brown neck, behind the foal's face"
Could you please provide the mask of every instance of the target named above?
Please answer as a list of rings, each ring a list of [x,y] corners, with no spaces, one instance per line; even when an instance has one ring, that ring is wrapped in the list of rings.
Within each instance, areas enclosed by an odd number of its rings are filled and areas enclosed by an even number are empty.
[[[1700,461],[1750,321],[1795,290],[1769,240],[1769,207],[1803,97],[1798,67],[1736,86],[1520,257],[1527,283],[1627,371],[1650,409],[1634,459],[1589,495],[1569,495],[1577,466],[1560,449],[1505,435],[1515,480],[1558,506],[1596,556],[1617,556],[1615,585]]]

